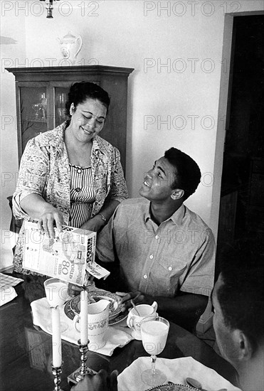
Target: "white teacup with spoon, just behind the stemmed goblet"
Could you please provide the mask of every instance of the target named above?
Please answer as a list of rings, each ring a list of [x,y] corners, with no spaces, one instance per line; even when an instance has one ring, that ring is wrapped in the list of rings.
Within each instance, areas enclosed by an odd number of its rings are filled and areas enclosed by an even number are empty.
[[[152,306],[139,304],[136,308],[130,309],[127,316],[127,326],[133,329],[132,337],[142,341],[141,322],[146,318],[155,319],[157,317],[157,306],[156,301],[154,301]]]

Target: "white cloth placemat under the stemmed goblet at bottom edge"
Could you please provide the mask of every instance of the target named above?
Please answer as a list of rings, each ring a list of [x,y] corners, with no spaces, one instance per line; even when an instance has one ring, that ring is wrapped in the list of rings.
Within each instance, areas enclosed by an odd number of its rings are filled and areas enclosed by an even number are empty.
[[[151,360],[149,357],[139,357],[137,360],[127,367],[117,377],[119,391],[144,391],[151,386],[146,385],[141,380],[143,370],[151,368]],[[185,384],[186,377],[201,382],[203,388],[208,391],[216,391],[220,388],[226,388],[228,391],[241,391],[239,388],[231,385],[231,382],[218,375],[215,370],[206,367],[194,360],[192,357],[174,358],[157,358],[156,368],[162,370],[167,376],[167,380],[176,384]]]

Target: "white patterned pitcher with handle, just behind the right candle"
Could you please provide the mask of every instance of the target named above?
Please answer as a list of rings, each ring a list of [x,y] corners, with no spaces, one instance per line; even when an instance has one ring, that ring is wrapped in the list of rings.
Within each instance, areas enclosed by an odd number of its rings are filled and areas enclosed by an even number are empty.
[[[97,303],[88,304],[89,350],[97,350],[105,346],[105,333],[109,322],[109,306],[110,301],[105,299],[97,301]],[[78,333],[80,333],[80,329],[77,326],[79,321],[80,314],[76,314],[73,318],[73,326]]]

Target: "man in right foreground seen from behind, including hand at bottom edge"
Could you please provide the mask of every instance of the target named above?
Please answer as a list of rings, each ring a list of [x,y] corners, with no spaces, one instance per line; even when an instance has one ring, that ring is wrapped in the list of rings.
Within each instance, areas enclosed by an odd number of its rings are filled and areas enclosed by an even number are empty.
[[[264,390],[264,249],[245,243],[226,252],[213,289],[213,328],[221,354],[238,371],[245,391]],[[73,391],[116,391],[117,373],[87,376]]]

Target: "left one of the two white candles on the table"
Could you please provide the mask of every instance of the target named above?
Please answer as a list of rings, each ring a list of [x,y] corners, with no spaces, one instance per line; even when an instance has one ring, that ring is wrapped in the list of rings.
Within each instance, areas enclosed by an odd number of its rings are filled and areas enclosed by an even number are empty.
[[[60,310],[51,309],[52,313],[52,363],[53,367],[61,367]]]

